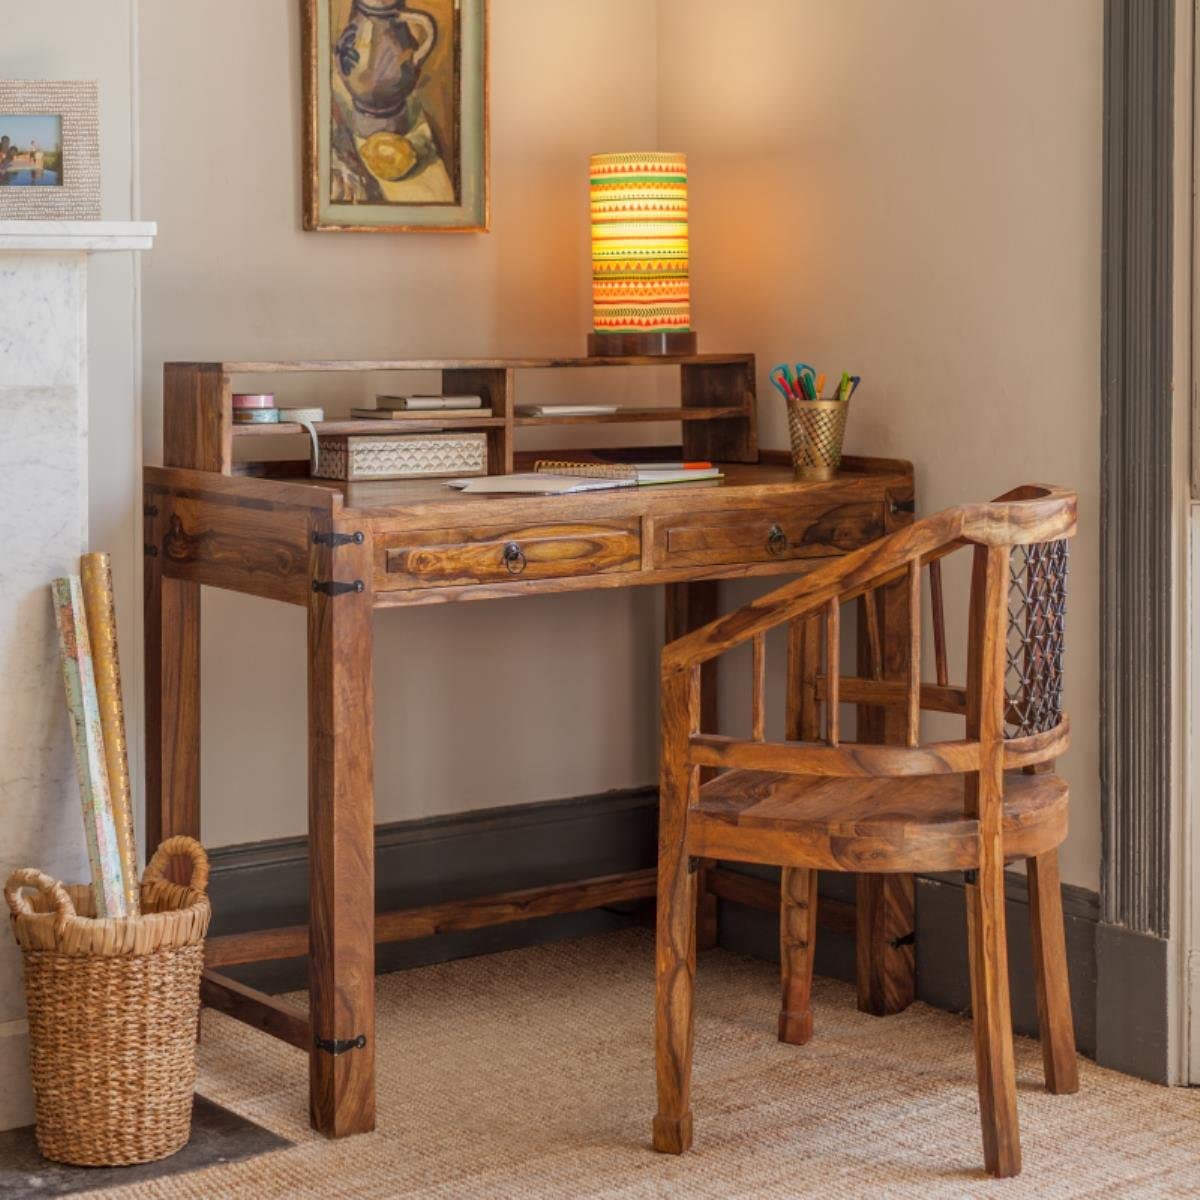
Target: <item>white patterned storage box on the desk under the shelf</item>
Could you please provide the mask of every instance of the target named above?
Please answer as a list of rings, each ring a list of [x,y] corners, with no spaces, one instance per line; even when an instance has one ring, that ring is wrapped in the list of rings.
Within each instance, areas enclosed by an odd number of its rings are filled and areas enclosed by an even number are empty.
[[[323,437],[317,479],[439,479],[487,474],[486,433]]]

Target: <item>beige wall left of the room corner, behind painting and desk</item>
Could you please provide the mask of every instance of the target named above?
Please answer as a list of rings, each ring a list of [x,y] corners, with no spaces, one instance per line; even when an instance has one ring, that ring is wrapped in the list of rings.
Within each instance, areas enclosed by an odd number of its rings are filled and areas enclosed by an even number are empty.
[[[298,7],[142,4],[151,458],[168,359],[582,353],[588,155],[655,142],[653,5],[497,0],[492,233],[302,233]],[[214,31],[218,52],[197,53]],[[355,386],[313,395],[344,408]],[[629,592],[378,614],[378,820],[653,781],[655,605]],[[204,643],[205,840],[301,833],[304,613],[209,594],[204,620],[221,630]]]

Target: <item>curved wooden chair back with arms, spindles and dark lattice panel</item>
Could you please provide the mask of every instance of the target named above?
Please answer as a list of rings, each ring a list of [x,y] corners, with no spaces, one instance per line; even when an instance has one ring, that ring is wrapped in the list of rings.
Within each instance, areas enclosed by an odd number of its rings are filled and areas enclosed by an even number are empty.
[[[989,775],[1039,767],[1066,748],[1062,708],[1068,540],[1076,500],[1031,485],[991,504],[962,505],[887,538],[718,618],[664,650],[664,688],[702,662],[751,643],[751,737],[701,733],[692,715],[682,752],[692,764],[828,775]],[[971,551],[967,680],[949,682],[941,560]],[[923,574],[929,570],[936,682],[920,678]],[[859,604],[862,673],[840,671],[841,608]],[[766,634],[788,626],[787,743],[766,740]],[[683,695],[677,690],[677,695]],[[858,740],[844,744],[840,708],[857,706]],[[923,710],[966,719],[965,738],[920,742]],[[823,720],[822,720],[823,716]],[[679,734],[677,710],[664,736]],[[805,746],[796,742],[808,743]],[[812,745],[823,742],[824,745]],[[886,742],[887,746],[874,743]],[[869,743],[869,744],[868,744]],[[977,787],[968,779],[971,792]],[[992,786],[995,791],[995,786]]]

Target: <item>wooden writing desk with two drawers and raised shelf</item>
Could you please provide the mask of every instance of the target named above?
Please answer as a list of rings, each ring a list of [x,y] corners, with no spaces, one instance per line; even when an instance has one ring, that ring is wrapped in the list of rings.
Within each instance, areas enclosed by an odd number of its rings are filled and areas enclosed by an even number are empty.
[[[487,395],[491,419],[455,424],[488,430],[492,469],[510,470],[517,427],[535,424],[514,413],[518,371],[635,365],[662,362],[167,366],[167,466],[145,473],[146,842],[200,836],[200,587],[305,606],[310,924],[210,938],[204,1000],[308,1054],[312,1123],[330,1135],[374,1124],[377,941],[577,912],[650,898],[655,889],[649,870],[377,916],[373,611],[662,583],[672,638],[716,616],[719,580],[794,575],[911,521],[912,468],[850,458],[832,482],[798,482],[786,455],[758,455],[754,359],[733,355],[671,360],[680,370],[682,408],[632,409],[624,418],[679,420],[689,458],[727,460],[721,485],[487,498],[460,496],[439,481],[257,478],[296,476],[304,464],[234,463],[235,433],[246,444],[260,434],[234,430],[230,380],[265,371],[440,370],[448,391]],[[395,425],[389,431],[403,432]],[[904,628],[904,604],[902,587],[881,596],[884,632]],[[888,646],[889,677],[904,677],[901,643]],[[714,712],[712,673],[704,697]],[[893,737],[877,710],[864,709],[859,720],[868,736]],[[743,899],[734,896],[738,887],[754,890],[749,882],[727,886],[731,898]],[[709,942],[714,922],[712,911]],[[911,878],[860,877],[857,926],[860,1007],[881,1014],[905,1007],[912,998]],[[305,954],[310,1012],[218,972]]]

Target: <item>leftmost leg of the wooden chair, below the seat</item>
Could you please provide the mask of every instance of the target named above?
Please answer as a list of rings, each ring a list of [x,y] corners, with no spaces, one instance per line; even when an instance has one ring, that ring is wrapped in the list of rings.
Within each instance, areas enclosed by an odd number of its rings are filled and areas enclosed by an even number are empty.
[[[654,1148],[682,1154],[691,1146],[692,992],[696,978],[696,875],[683,839],[659,846],[655,1068],[659,1111]]]

